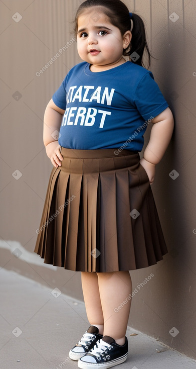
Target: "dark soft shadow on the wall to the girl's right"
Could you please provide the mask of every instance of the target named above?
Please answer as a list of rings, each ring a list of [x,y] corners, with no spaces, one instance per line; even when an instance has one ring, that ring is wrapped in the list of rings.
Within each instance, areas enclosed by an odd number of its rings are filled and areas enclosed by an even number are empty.
[[[163,332],[163,341],[195,358],[195,340],[192,332],[196,328],[196,288],[193,283],[196,268],[190,260],[190,254],[193,260],[196,258],[195,191],[191,192],[190,187],[192,179],[195,183],[195,176],[192,176],[191,170],[188,170],[190,166],[187,165],[195,153],[191,152],[195,142],[190,136],[195,137],[196,132],[193,110],[190,111],[184,104],[186,94],[184,88],[187,80],[191,83],[194,69],[191,60],[186,57],[188,54],[184,42],[184,29],[176,29],[169,36],[167,46],[165,40],[162,42],[164,50],[159,74],[164,76],[163,83],[167,90],[163,93],[174,115],[175,128],[164,159],[157,167],[154,188],[157,207],[164,209],[165,212],[161,224],[168,248],[168,258],[164,264],[164,281],[161,283],[160,291],[164,299],[156,296],[155,306],[156,312],[161,312],[165,308],[167,310],[167,314],[163,315],[167,316],[168,331]],[[189,50],[190,53],[192,50]],[[191,99],[190,90],[189,94]],[[166,182],[162,173],[169,175]]]

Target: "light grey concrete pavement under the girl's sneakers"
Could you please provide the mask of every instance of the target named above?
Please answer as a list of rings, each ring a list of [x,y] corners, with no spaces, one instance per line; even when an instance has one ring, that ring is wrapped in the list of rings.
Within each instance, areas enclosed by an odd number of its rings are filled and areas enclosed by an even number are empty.
[[[72,346],[89,326],[84,304],[20,274],[1,269],[3,369],[77,368]],[[130,335],[137,333],[137,335]],[[193,369],[196,361],[128,327],[127,360],[119,369]]]

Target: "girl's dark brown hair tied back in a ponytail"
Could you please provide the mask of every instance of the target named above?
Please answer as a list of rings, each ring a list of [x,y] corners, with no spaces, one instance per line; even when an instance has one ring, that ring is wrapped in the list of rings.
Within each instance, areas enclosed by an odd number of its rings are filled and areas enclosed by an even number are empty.
[[[126,7],[126,5],[123,2],[121,2],[121,0],[86,0],[78,8],[76,17],[74,20],[74,24],[75,24],[74,33],[75,33],[76,38],[77,38],[77,32],[78,32],[79,16],[84,11],[92,7],[100,7],[101,13],[104,13],[109,18],[113,26],[118,27],[122,36],[124,35],[126,31],[130,30],[131,21],[130,21],[129,10]],[[133,52],[136,52],[139,55],[139,58],[136,61],[134,61],[134,59],[131,59],[131,58],[129,59],[133,60],[135,64],[144,66],[143,54],[144,54],[144,51],[146,51],[146,54],[148,57],[148,68],[149,68],[150,57],[152,55],[149,51],[147,41],[146,41],[144,22],[141,19],[141,17],[135,13],[132,14],[131,19],[133,21],[133,29],[131,31],[132,39],[131,39],[130,45],[126,49],[124,49],[123,55],[130,57],[130,55]]]

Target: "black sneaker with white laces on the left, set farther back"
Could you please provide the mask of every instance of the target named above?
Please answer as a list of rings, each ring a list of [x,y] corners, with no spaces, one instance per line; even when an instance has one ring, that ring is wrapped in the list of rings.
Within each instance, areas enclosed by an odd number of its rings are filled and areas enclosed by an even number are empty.
[[[98,341],[103,338],[99,334],[99,329],[94,325],[91,325],[89,329],[83,334],[81,340],[70,350],[69,357],[72,360],[79,360],[84,356]]]

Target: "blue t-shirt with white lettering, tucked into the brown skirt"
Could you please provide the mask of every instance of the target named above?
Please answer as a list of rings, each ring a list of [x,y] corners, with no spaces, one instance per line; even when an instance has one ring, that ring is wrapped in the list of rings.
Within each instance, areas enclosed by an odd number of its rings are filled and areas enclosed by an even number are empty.
[[[102,72],[79,63],[52,99],[65,110],[59,144],[81,150],[141,151],[147,121],[168,107],[152,73],[130,61]]]

